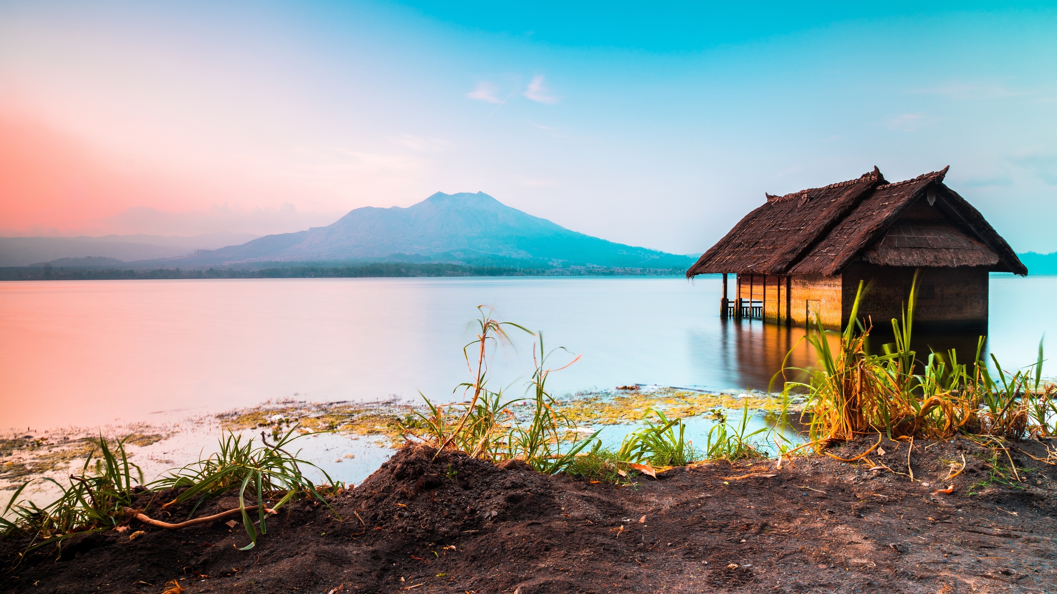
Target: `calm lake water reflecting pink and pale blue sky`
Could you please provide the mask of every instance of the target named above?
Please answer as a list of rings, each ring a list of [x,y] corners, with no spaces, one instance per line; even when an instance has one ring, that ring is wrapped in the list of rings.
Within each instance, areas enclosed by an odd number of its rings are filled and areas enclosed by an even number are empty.
[[[421,390],[448,400],[470,379],[462,348],[479,304],[542,331],[548,350],[568,349],[553,367],[582,354],[551,375],[559,393],[636,383],[766,389],[804,331],[722,320],[719,294],[718,277],[5,282],[0,429],[159,421],[289,397],[411,400]],[[1052,342],[1055,295],[1054,276],[993,275],[988,346],[1004,367],[1033,363],[1043,333]],[[520,393],[535,338],[511,336],[492,380]],[[803,346],[791,360],[812,363]]]

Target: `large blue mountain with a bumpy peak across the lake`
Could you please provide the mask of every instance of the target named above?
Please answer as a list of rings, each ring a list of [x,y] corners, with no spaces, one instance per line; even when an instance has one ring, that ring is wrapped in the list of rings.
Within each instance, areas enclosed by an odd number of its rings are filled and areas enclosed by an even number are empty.
[[[569,230],[511,208],[484,192],[437,192],[407,208],[356,208],[326,227],[203,250],[171,259],[167,265],[318,260],[650,268],[685,268],[693,263],[688,256]]]

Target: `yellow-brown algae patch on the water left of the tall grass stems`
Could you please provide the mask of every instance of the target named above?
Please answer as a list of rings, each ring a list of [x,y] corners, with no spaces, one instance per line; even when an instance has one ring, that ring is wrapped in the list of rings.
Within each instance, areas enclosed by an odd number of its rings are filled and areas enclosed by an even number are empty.
[[[412,407],[391,401],[374,403],[309,403],[282,401],[217,415],[224,429],[267,429],[273,435],[297,425],[298,431],[335,431],[350,435],[382,438],[382,447],[403,443],[401,423]]]

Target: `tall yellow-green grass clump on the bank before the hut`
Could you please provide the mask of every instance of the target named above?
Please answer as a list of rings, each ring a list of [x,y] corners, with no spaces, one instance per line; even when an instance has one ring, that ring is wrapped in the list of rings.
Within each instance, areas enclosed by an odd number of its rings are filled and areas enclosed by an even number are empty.
[[[1042,382],[1041,342],[1037,361],[1016,372],[1002,369],[991,355],[998,380],[981,356],[983,336],[972,365],[960,364],[954,350],[946,356],[929,353],[921,361],[910,350],[915,275],[902,322],[892,320],[895,341],[885,345],[883,354],[870,354],[867,341],[872,327],[856,317],[864,291],[859,283],[853,321],[840,333],[839,349],[830,349],[827,331],[818,324],[805,339],[818,354],[819,367],[800,370],[808,373],[805,382],[785,384],[785,395],[793,390],[808,392],[804,415],[810,419],[811,443],[826,447],[864,433],[928,440],[958,433],[1006,439],[1053,434],[1057,388]]]

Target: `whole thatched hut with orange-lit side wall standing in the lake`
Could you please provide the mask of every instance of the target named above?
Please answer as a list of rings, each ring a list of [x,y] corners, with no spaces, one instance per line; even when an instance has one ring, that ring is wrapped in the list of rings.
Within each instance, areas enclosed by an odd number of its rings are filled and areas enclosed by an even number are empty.
[[[1027,268],[958,192],[949,167],[889,183],[876,167],[857,180],[785,196],[745,216],[686,272],[723,273],[724,316],[826,328],[848,323],[859,281],[872,289],[860,317],[901,315],[921,270],[915,326],[987,326],[987,273]],[[727,298],[727,274],[737,275]]]

